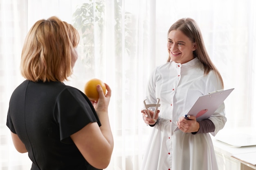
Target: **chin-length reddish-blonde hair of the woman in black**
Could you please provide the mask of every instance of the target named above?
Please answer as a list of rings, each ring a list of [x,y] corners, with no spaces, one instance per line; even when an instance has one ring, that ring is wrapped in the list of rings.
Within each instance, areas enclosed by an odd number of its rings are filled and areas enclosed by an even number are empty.
[[[77,59],[78,43],[79,33],[71,24],[55,16],[37,21],[22,49],[22,76],[35,82],[67,80]]]

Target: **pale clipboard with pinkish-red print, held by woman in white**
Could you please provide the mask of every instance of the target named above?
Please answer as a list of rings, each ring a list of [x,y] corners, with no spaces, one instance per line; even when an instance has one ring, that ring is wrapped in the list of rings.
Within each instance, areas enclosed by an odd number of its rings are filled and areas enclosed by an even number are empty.
[[[218,90],[216,92],[210,92],[207,95],[200,96],[198,100],[196,100],[195,104],[191,107],[187,115],[195,116],[197,121],[208,119],[233,90],[234,88]],[[179,130],[178,127],[174,131],[177,130]]]

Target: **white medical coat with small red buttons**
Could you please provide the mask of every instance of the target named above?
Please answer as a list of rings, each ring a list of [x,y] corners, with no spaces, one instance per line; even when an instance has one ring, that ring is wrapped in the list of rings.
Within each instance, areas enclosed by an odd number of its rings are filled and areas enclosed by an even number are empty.
[[[199,96],[222,89],[213,71],[204,75],[198,58],[180,64],[170,61],[158,66],[149,78],[146,102],[161,106],[157,123],[152,128],[141,170],[218,170],[209,133],[175,131],[177,120],[184,116]],[[213,136],[227,121],[224,103],[209,118],[215,125]]]

